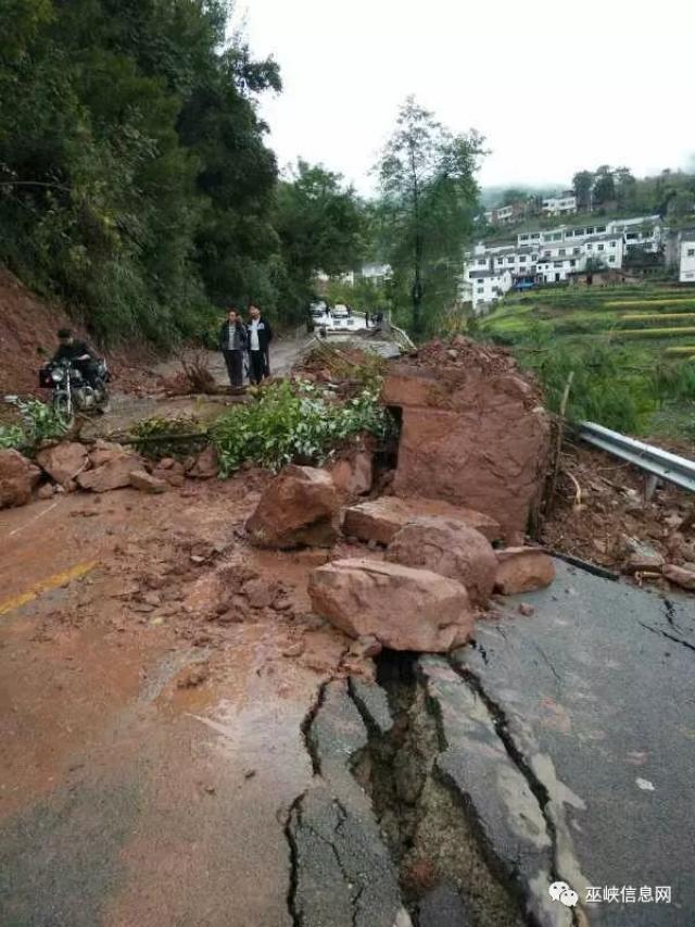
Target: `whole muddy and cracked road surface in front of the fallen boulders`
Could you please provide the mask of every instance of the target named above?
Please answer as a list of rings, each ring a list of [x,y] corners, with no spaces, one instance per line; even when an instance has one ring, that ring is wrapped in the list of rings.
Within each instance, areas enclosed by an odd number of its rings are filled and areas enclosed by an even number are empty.
[[[381,554],[250,548],[267,479],[0,513],[0,924],[691,924],[692,600],[558,562],[366,660],[306,584]]]

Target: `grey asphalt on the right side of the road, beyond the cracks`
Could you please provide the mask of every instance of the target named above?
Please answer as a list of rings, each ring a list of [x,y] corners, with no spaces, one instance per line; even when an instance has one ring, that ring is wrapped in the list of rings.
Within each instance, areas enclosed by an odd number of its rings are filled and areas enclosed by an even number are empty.
[[[453,665],[477,710],[491,713],[510,765],[545,800],[553,872],[589,887],[670,887],[667,903],[585,906],[592,925],[690,925],[695,910],[695,606],[557,562],[545,590],[509,600],[508,617],[480,623]],[[517,601],[531,603],[531,617]],[[514,807],[485,767],[462,773],[477,812]],[[489,771],[488,771],[489,772]],[[485,786],[485,787],[481,787]],[[496,852],[519,843],[492,827]],[[541,887],[541,894],[543,888]],[[559,905],[558,905],[559,906]]]

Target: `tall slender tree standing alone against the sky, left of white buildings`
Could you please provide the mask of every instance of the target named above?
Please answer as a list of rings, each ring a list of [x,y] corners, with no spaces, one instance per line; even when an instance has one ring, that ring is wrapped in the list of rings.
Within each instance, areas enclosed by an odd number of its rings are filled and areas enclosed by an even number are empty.
[[[408,97],[378,164],[388,255],[407,288],[416,334],[454,298],[483,153],[476,131],[454,135]]]

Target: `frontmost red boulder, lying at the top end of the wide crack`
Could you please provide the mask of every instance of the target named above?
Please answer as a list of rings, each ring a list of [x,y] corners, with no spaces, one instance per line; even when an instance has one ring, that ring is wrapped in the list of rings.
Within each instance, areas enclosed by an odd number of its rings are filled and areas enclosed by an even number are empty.
[[[309,577],[314,611],[353,638],[392,650],[444,653],[465,643],[475,615],[465,588],[429,569],[338,560]]]

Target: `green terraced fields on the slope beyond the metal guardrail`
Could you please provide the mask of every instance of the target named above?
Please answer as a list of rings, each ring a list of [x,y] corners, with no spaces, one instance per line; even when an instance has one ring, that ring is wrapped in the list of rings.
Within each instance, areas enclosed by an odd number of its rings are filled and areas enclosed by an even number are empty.
[[[509,295],[476,323],[510,347],[568,415],[633,435],[695,441],[695,289],[665,285]]]

